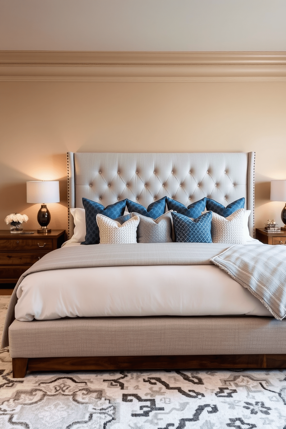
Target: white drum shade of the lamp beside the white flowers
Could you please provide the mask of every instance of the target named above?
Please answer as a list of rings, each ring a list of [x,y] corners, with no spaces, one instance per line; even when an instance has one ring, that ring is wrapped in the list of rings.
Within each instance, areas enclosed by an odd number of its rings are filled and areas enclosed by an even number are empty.
[[[34,204],[60,202],[59,182],[38,180],[27,182],[27,202]]]

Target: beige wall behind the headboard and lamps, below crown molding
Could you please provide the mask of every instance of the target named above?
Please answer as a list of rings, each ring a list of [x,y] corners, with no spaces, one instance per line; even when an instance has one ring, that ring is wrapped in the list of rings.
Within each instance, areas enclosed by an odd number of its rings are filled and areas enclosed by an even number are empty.
[[[60,180],[51,227],[67,229],[66,152],[256,151],[256,227],[281,225],[286,82],[0,82],[0,229],[36,228],[27,180]]]

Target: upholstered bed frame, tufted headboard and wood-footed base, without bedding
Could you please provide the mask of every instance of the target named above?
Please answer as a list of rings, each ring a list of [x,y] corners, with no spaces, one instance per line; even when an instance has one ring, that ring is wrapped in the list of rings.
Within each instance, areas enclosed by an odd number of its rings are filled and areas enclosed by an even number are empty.
[[[82,197],[146,207],[167,195],[189,205],[245,197],[254,234],[250,153],[68,153],[69,208]],[[69,238],[73,233],[69,215]],[[286,367],[285,322],[272,317],[95,317],[19,322],[9,328],[13,376],[26,370]]]

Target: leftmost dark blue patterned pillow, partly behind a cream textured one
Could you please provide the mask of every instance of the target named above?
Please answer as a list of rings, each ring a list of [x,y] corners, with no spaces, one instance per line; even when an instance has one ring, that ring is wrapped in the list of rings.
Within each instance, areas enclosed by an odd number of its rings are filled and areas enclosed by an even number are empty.
[[[111,219],[123,216],[126,207],[126,199],[110,204],[107,207],[86,198],[82,199],[82,203],[85,209],[86,235],[85,241],[81,242],[81,244],[99,244],[99,228],[96,223],[96,215],[100,213]],[[118,221],[120,222],[120,220]]]

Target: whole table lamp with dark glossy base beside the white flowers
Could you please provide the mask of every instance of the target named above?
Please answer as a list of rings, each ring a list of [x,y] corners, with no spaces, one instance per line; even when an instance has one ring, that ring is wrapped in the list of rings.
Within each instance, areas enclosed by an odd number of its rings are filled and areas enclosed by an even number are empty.
[[[43,202],[45,201],[45,202]],[[50,233],[48,224],[51,221],[51,213],[46,206],[47,202],[60,202],[60,188],[58,181],[28,181],[27,182],[27,202],[41,203],[37,220],[41,228],[38,233]]]

